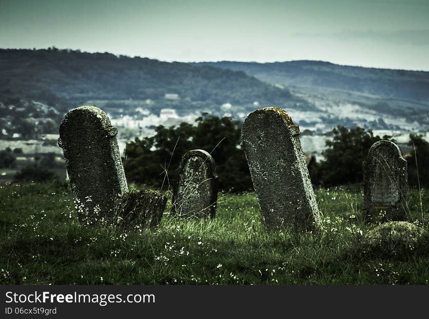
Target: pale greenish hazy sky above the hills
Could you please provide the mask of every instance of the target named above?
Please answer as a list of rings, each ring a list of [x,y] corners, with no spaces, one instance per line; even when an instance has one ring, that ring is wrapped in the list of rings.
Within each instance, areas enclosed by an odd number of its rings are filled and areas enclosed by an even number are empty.
[[[429,71],[429,0],[0,0],[0,47]]]

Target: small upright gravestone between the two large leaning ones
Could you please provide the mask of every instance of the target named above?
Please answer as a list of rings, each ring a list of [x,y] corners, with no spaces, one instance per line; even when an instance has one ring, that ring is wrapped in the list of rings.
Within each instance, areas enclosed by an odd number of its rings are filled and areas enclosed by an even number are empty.
[[[215,217],[217,175],[215,161],[204,150],[187,152],[180,162],[173,193],[173,211],[184,217]]]

